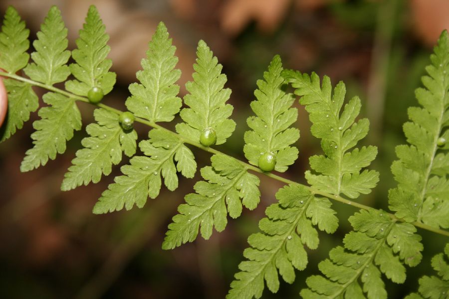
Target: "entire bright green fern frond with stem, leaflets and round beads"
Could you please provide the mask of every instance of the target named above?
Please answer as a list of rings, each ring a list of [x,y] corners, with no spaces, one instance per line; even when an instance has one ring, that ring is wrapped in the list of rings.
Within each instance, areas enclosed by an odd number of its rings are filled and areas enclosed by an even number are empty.
[[[211,165],[201,168],[203,181],[194,193],[185,196],[178,214],[169,224],[163,249],[174,249],[193,242],[200,233],[209,239],[215,228],[221,232],[230,218],[241,215],[243,207],[253,210],[260,201],[259,177],[266,175],[286,184],[275,195],[276,201],[265,210],[260,232],[249,236],[244,261],[230,285],[226,298],[260,298],[265,284],[275,293],[280,277],[295,281],[295,272],[308,266],[307,252],[319,245],[318,230],[332,234],[338,227],[331,200],[350,204],[360,211],[349,218],[353,231],[346,234],[343,246],[319,263],[322,275],[306,280],[303,298],[387,298],[383,275],[394,283],[406,279],[406,267],[417,266],[424,247],[417,227],[446,237],[449,232],[449,35],[444,31],[431,56],[432,64],[423,77],[424,88],[416,95],[421,107],[409,109],[410,122],[404,125],[408,145],[399,145],[399,160],[392,172],[398,185],[388,194],[390,214],[364,206],[355,200],[376,187],[379,173],[368,169],[377,156],[375,146],[358,146],[369,130],[369,121],[359,119],[361,101],[354,97],[345,103],[345,85],[332,87],[322,79],[283,69],[276,55],[257,81],[255,99],[250,106],[250,130],[244,134],[244,156],[248,163],[213,148],[231,136],[236,123],[230,119],[233,107],[226,103],[231,90],[225,87],[222,65],[205,41],[200,40],[193,81],[186,84],[188,94],[181,99],[176,84],[181,71],[166,26],[161,22],[152,40],[139,82],[129,86],[130,96],[120,111],[101,103],[111,92],[116,75],[109,71],[109,46],[105,27],[94,6],[87,12],[76,40],[77,48],[67,49],[67,29],[59,9],[53,6],[27,53],[29,30],[13,7],[8,7],[0,32],[0,75],[8,94],[8,116],[1,141],[11,137],[30,113],[39,107],[32,86],[46,90],[46,106],[38,111],[31,134],[33,147],[26,151],[21,171],[45,165],[48,159],[66,150],[66,142],[81,130],[77,102],[95,105],[95,122],[86,126],[88,137],[81,141],[72,166],[62,180],[61,190],[71,190],[109,175],[113,165],[130,157],[93,208],[95,214],[134,205],[143,207],[147,198],[156,198],[162,183],[168,190],[178,188],[178,173],[193,178],[197,171],[192,147],[212,155]],[[73,63],[67,64],[70,57]],[[31,58],[31,61],[29,61]],[[24,75],[18,75],[23,70]],[[65,89],[55,87],[65,84]],[[287,92],[291,85],[294,93]],[[58,85],[59,86],[59,85]],[[298,158],[295,143],[299,130],[294,127],[298,111],[305,107],[312,123],[312,135],[321,140],[323,153],[309,158],[308,185],[276,174],[285,172]],[[186,105],[181,109],[182,104]],[[166,129],[179,113],[182,122],[176,131]],[[148,138],[137,143],[133,122],[149,126]],[[136,156],[137,146],[142,155]],[[349,199],[348,199],[349,198]],[[445,253],[432,259],[437,276],[419,280],[418,293],[407,298],[448,298],[449,245]],[[312,265],[311,267],[313,267]],[[310,266],[309,266],[310,267]],[[412,292],[413,290],[411,290]]]

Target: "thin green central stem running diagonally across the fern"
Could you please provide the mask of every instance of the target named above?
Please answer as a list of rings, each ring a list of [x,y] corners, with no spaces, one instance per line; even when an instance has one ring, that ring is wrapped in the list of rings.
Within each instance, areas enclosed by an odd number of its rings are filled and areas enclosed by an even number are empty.
[[[2,71],[0,71],[0,76],[1,76],[1,77],[12,78],[12,79],[15,79],[15,80],[18,80],[18,81],[22,81],[22,82],[26,82],[26,83],[29,83],[29,84],[31,84],[31,85],[36,85],[36,86],[39,86],[39,87],[48,89],[48,90],[50,90],[50,91],[60,93],[60,94],[65,95],[65,96],[67,96],[67,97],[69,97],[69,98],[73,98],[73,99],[75,99],[75,100],[79,100],[79,101],[83,101],[83,102],[86,102],[86,103],[90,103],[89,100],[88,100],[86,97],[82,97],[82,96],[79,96],[79,95],[75,95],[75,94],[72,94],[72,93],[67,92],[67,91],[65,91],[65,90],[56,88],[56,87],[54,87],[54,86],[47,85],[47,84],[44,84],[44,83],[40,83],[40,82],[37,82],[37,81],[33,81],[33,80],[30,80],[30,79],[27,79],[27,78],[23,78],[23,77],[21,77],[21,76],[15,75],[15,74],[11,74],[11,73],[7,73],[7,72],[2,72]],[[98,107],[103,108],[103,109],[106,109],[106,110],[108,110],[108,111],[117,113],[117,114],[121,114],[121,113],[123,112],[123,111],[121,111],[121,110],[119,110],[119,109],[112,108],[112,107],[110,107],[110,106],[108,106],[108,105],[105,105],[105,104],[102,104],[102,103],[98,103],[98,104],[90,103],[90,104],[95,105],[95,106],[98,106]],[[152,121],[149,121],[149,120],[140,118],[140,117],[136,117],[135,121],[136,121],[136,122],[140,122],[140,123],[145,124],[145,125],[148,125],[148,126],[150,126],[150,127],[152,127],[152,128],[155,128],[155,129],[161,129],[161,130],[164,130],[165,132],[167,132],[167,133],[169,133],[169,134],[172,134],[172,135],[176,136],[176,137],[177,137],[179,140],[181,140],[183,143],[187,143],[187,144],[193,145],[193,146],[195,146],[195,147],[197,147],[197,148],[199,148],[199,149],[202,149],[202,150],[204,150],[204,151],[206,151],[206,152],[209,152],[209,153],[211,153],[211,154],[225,155],[225,156],[227,156],[227,157],[230,157],[230,158],[232,158],[232,159],[235,159],[234,157],[229,156],[229,155],[226,155],[225,153],[222,153],[221,151],[218,151],[218,150],[213,149],[213,148],[210,148],[210,147],[203,146],[203,145],[202,145],[201,143],[199,143],[199,142],[195,142],[195,141],[190,140],[190,139],[188,139],[188,138],[186,138],[186,137],[184,137],[184,136],[181,136],[181,135],[179,135],[178,133],[173,132],[173,131],[171,131],[171,130],[169,130],[169,129],[166,129],[166,128],[164,128],[164,127],[158,125],[158,124],[155,123],[155,122],[152,122]],[[253,166],[253,165],[250,165],[250,164],[248,164],[248,163],[246,163],[246,162],[243,162],[243,161],[241,161],[241,160],[238,160],[238,159],[235,159],[235,160],[238,161],[244,168],[246,168],[246,169],[248,169],[248,170],[251,170],[251,171],[256,172],[256,173],[259,173],[259,174],[264,174],[264,175],[266,175],[267,177],[270,177],[270,178],[275,179],[275,180],[277,180],[277,181],[280,181],[280,182],[282,182],[282,183],[285,183],[285,184],[299,184],[299,183],[297,183],[297,182],[294,182],[294,181],[292,181],[292,180],[289,180],[289,179],[280,177],[280,176],[278,176],[278,175],[275,175],[275,174],[272,174],[272,173],[269,173],[269,172],[264,172],[264,171],[260,170],[260,168],[255,167],[255,166]],[[300,184],[300,185],[302,185],[302,184]],[[374,208],[372,208],[372,207],[365,206],[365,205],[363,205],[363,204],[360,204],[360,203],[351,201],[351,200],[349,200],[349,199],[345,199],[345,198],[343,198],[343,197],[341,197],[341,196],[339,196],[339,195],[333,195],[333,194],[330,194],[330,193],[326,193],[326,192],[319,191],[319,190],[317,190],[317,189],[315,189],[315,188],[313,188],[313,187],[311,187],[311,186],[306,186],[306,185],[302,185],[302,186],[304,186],[304,187],[306,187],[307,189],[309,189],[311,193],[319,194],[319,195],[321,195],[321,196],[327,197],[327,198],[329,198],[329,199],[336,200],[336,201],[338,201],[338,202],[341,202],[341,203],[344,203],[344,204],[347,204],[347,205],[351,205],[351,206],[357,207],[357,208],[359,208],[359,209],[364,209],[364,210],[371,210],[371,209],[374,209]],[[393,219],[393,220],[396,220],[396,221],[404,221],[404,220],[402,220],[402,219],[397,218],[397,217],[396,217],[395,215],[393,215],[393,214],[388,213],[388,215],[389,215],[389,216],[391,217],[391,219]],[[431,232],[434,232],[434,233],[437,233],[437,234],[440,234],[440,235],[449,237],[449,231],[445,231],[445,230],[441,230],[441,229],[438,229],[438,228],[434,228],[434,227],[431,227],[431,226],[429,226],[429,225],[423,224],[423,223],[421,223],[421,222],[412,222],[411,224],[413,224],[413,225],[416,226],[416,227],[422,228],[422,229],[424,229],[424,230],[431,231]]]

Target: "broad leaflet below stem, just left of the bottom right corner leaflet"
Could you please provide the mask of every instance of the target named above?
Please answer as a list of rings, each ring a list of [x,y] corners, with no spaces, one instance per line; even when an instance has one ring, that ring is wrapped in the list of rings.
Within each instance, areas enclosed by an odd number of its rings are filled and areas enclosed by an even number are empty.
[[[416,228],[397,223],[378,210],[361,210],[349,218],[354,231],[329,253],[329,260],[318,267],[324,276],[307,279],[310,289],[301,291],[304,299],[387,298],[381,273],[397,284],[404,283],[406,268],[421,262],[423,245]],[[360,285],[362,283],[362,286]]]

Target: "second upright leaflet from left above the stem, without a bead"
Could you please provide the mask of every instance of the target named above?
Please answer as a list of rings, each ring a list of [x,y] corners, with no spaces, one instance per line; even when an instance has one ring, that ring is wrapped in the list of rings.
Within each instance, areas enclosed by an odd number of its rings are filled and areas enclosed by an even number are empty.
[[[63,82],[70,75],[66,65],[70,58],[67,50],[67,28],[62,21],[61,12],[51,6],[37,39],[33,42],[35,52],[31,53],[34,62],[28,64],[23,71],[31,80],[47,85]]]

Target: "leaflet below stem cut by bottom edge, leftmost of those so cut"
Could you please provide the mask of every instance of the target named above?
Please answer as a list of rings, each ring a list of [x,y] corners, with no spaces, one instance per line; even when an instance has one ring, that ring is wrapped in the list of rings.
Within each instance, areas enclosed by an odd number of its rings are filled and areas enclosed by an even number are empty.
[[[271,292],[277,292],[278,272],[285,282],[293,283],[294,269],[304,270],[307,265],[304,245],[318,247],[318,232],[313,226],[327,233],[338,227],[329,200],[314,197],[304,186],[286,186],[276,193],[276,199],[279,203],[269,206],[267,217],[259,222],[262,233],[248,238],[251,247],[243,252],[248,260],[238,266],[241,272],[235,274],[227,299],[260,298],[264,280]]]

